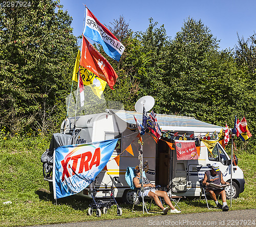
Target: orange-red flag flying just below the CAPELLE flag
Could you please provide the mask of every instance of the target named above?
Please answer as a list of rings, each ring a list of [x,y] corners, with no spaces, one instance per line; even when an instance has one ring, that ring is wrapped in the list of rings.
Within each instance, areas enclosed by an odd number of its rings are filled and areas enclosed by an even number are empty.
[[[106,81],[110,88],[113,89],[118,75],[108,60],[84,36],[82,36],[81,53],[80,65],[93,72],[103,81]]]

